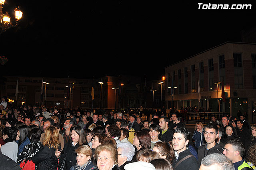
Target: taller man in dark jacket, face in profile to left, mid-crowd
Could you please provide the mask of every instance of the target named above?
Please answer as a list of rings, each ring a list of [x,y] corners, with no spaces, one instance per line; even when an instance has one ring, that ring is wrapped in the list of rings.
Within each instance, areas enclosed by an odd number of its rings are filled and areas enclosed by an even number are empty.
[[[173,131],[171,128],[169,128],[168,123],[168,118],[166,116],[162,116],[159,119],[159,126],[162,130],[160,133],[160,140],[166,143],[171,141],[173,136]]]

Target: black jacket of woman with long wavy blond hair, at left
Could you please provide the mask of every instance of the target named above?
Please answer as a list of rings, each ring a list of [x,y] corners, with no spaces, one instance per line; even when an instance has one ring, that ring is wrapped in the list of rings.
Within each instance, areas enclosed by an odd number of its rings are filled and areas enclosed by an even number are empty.
[[[36,155],[32,158],[32,161],[38,167],[38,170],[56,170],[57,164],[55,162],[55,149],[44,146]]]

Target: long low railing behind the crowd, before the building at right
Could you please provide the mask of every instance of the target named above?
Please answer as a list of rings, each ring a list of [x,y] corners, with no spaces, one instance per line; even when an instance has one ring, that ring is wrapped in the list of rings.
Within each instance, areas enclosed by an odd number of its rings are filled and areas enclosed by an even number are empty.
[[[194,121],[194,122],[210,122],[211,117],[215,116],[217,120],[220,120],[223,115],[228,114],[229,112],[193,112],[193,113],[180,113],[182,118],[187,121]]]

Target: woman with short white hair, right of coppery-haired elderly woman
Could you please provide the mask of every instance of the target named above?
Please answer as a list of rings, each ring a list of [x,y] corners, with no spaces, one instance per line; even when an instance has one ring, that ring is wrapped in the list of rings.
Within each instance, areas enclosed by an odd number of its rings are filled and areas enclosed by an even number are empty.
[[[131,163],[132,157],[135,154],[135,148],[132,144],[121,142],[116,145],[118,152],[118,166],[120,170],[124,170],[126,164]]]

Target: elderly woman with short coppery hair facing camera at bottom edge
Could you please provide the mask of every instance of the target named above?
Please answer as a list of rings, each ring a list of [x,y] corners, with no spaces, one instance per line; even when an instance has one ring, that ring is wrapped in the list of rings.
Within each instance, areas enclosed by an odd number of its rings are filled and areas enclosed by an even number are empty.
[[[102,144],[95,150],[96,170],[120,170],[118,168],[118,152],[112,144]]]

